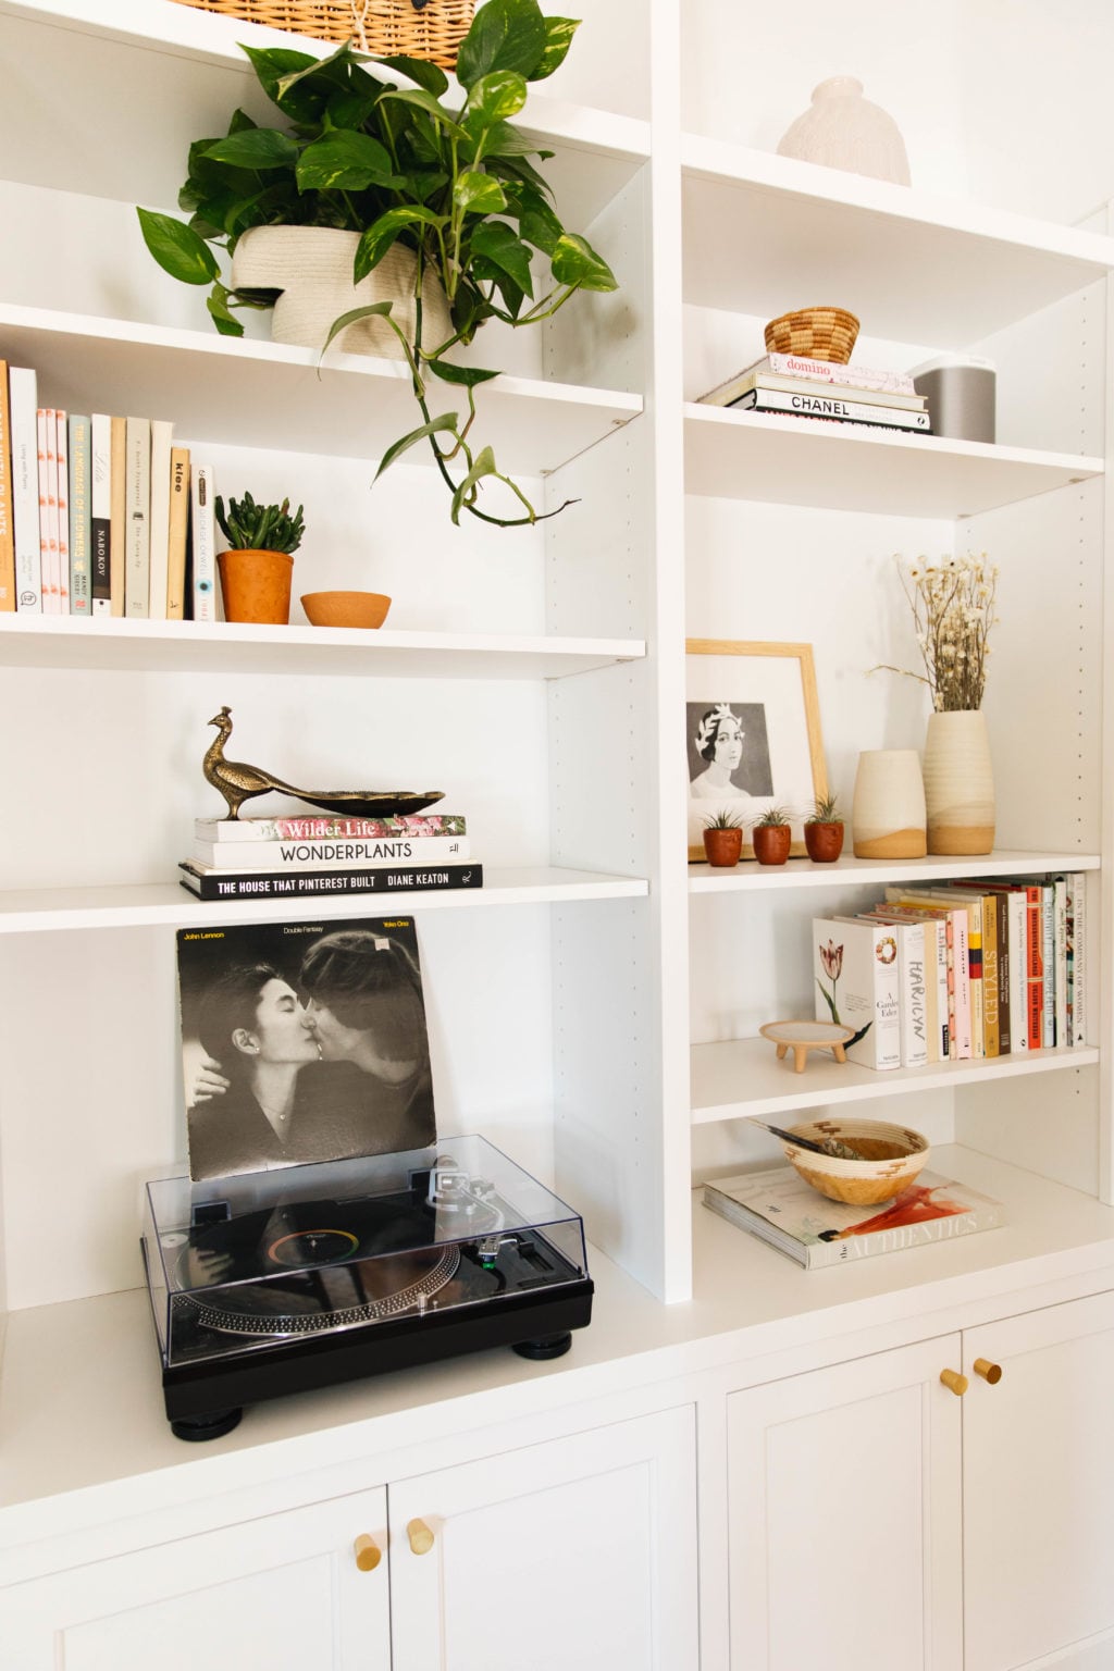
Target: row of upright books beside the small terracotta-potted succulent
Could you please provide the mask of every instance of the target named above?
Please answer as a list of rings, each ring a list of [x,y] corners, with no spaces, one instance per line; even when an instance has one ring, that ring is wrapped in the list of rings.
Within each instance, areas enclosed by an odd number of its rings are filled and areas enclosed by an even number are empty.
[[[0,359],[0,610],[217,618],[212,466],[162,418],[38,404]]]

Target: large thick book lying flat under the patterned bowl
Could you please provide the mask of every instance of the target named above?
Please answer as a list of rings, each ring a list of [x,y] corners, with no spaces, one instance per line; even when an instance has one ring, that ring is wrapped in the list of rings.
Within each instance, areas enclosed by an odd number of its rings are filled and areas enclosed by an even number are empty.
[[[882,1206],[828,1201],[792,1166],[717,1178],[705,1183],[703,1201],[805,1270],[995,1230],[1004,1222],[1000,1201],[934,1171],[922,1171]]]

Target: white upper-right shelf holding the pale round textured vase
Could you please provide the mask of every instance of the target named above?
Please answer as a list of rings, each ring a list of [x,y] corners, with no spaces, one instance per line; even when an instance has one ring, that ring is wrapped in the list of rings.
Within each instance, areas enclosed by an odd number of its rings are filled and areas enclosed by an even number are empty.
[[[1114,239],[842,169],[691,134],[681,164],[685,301],[703,307],[772,319],[812,297],[863,336],[957,349],[1114,267]]]

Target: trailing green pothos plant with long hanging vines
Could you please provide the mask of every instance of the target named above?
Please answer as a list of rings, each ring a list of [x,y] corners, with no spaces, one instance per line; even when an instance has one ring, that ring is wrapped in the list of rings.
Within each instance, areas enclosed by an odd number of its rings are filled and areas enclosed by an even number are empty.
[[[321,60],[282,47],[244,47],[281,124],[261,127],[235,110],[222,139],[190,145],[179,194],[189,222],[139,209],[150,254],[172,277],[210,286],[209,312],[227,336],[244,334],[234,309],[274,306],[277,294],[230,289],[220,277],[214,249],[230,256],[252,227],[359,232],[356,282],[396,244],[411,249],[413,331],[391,317],[391,302],[372,302],[336,319],[322,349],[357,319],[386,317],[403,346],[423,423],[386,449],[376,480],[426,441],[453,493],[454,523],[461,511],[499,526],[541,518],[499,471],[493,449],[471,436],[474,389],[499,373],[453,364],[448,353],[469,344],[488,319],[539,324],[576,291],[616,289],[606,261],[565,229],[549,185],[529,160],[553,152],[511,122],[526,104],[528,84],[565,60],[576,28],[573,18],[543,17],[536,0],[486,0],[459,48],[456,77],[466,97],[454,109],[444,104],[449,80],[434,63],[371,58],[351,42]],[[431,279],[443,286],[453,323],[436,344],[423,343],[423,291]],[[468,411],[434,413],[429,378],[459,388]],[[506,483],[521,501],[521,516],[479,508],[486,478]],[[544,515],[560,510],[565,505]]]

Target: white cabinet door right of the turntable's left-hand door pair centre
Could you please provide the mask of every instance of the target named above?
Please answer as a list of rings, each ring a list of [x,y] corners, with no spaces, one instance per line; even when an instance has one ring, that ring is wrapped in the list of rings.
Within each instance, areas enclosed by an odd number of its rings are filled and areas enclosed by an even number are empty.
[[[392,1484],[389,1509],[394,1671],[696,1671],[691,1407]]]

